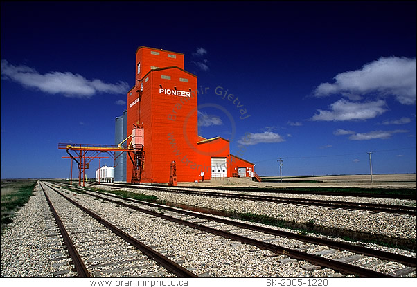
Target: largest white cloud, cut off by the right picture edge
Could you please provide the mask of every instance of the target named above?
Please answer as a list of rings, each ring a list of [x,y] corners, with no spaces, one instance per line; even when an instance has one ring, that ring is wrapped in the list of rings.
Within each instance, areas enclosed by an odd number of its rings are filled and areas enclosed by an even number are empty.
[[[393,95],[401,104],[416,103],[416,58],[381,57],[360,70],[340,73],[334,79],[334,84],[317,86],[314,95],[341,93],[357,98],[366,93],[378,93]]]

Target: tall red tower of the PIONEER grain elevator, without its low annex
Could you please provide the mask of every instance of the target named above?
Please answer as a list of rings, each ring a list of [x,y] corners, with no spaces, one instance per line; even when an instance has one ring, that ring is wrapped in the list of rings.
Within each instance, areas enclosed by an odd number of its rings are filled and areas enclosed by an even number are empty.
[[[184,54],[139,47],[135,86],[127,93],[127,131],[143,127],[145,161],[142,182],[168,182],[170,163],[177,163],[177,180],[197,180],[197,77],[184,71]],[[171,144],[172,142],[172,144]],[[172,149],[175,145],[177,149]],[[184,158],[185,157],[185,158]],[[132,163],[127,160],[127,182]]]

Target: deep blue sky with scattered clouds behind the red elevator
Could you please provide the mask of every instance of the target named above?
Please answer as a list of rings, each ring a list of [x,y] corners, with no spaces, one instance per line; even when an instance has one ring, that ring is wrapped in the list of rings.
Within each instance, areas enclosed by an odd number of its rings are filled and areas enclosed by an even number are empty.
[[[416,172],[415,1],[1,1],[1,178],[114,144],[139,46],[185,54],[200,135],[260,175]]]

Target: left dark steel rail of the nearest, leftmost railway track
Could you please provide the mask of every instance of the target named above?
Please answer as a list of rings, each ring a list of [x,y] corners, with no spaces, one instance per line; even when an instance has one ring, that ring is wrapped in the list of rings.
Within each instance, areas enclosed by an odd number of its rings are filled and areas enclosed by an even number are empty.
[[[42,188],[42,191],[44,192],[44,195],[46,197],[46,201],[48,202],[49,208],[51,209],[53,217],[55,218],[55,222],[57,223],[58,228],[60,228],[62,239],[64,239],[64,243],[66,245],[66,248],[68,249],[69,255],[71,256],[71,259],[73,261],[74,266],[76,267],[78,277],[81,277],[81,278],[91,277],[87,268],[84,265],[84,262],[82,261],[82,259],[80,257],[80,254],[78,254],[78,251],[76,250],[76,247],[74,246],[73,241],[71,240],[71,237],[69,237],[68,232],[66,232],[66,229],[64,227],[64,223],[62,223],[62,220],[60,219],[60,216],[57,214],[57,211],[55,210],[55,207],[53,207],[53,205],[51,203],[51,200],[49,199],[48,195],[46,194],[45,189],[42,186],[42,183],[40,181],[39,181],[39,185]]]

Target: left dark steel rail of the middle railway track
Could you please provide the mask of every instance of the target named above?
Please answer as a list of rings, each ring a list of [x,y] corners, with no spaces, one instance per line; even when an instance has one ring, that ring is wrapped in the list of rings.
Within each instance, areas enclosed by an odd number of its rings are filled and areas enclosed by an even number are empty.
[[[91,194],[89,194],[89,195],[91,195]],[[101,196],[98,196],[98,197],[101,197]],[[222,231],[222,230],[217,230],[215,228],[210,228],[210,227],[207,227],[207,226],[204,226],[204,225],[199,225],[197,223],[192,223],[192,222],[185,221],[185,220],[182,220],[182,219],[177,219],[175,217],[168,216],[168,215],[165,215],[165,214],[160,214],[158,212],[152,212],[151,210],[145,210],[145,209],[143,209],[141,207],[137,207],[135,205],[130,205],[130,204],[127,204],[127,203],[112,201],[112,200],[109,200],[109,199],[107,199],[107,200],[111,201],[111,202],[114,202],[114,203],[117,203],[118,205],[123,205],[125,207],[132,208],[133,210],[143,212],[145,214],[150,214],[152,216],[157,216],[161,219],[166,219],[168,221],[179,223],[181,225],[186,225],[186,226],[191,227],[191,228],[196,228],[196,229],[202,230],[204,232],[209,232],[209,233],[212,233],[212,234],[216,234],[216,235],[219,235],[221,237],[225,237],[225,238],[232,239],[232,240],[235,240],[235,241],[240,241],[241,243],[247,243],[249,245],[256,246],[256,247],[258,247],[260,249],[263,249],[263,250],[269,250],[269,251],[274,252],[276,254],[284,254],[284,255],[286,255],[288,257],[292,257],[294,259],[309,261],[310,263],[313,263],[315,265],[331,268],[332,270],[337,270],[339,272],[354,274],[354,275],[357,275],[357,276],[360,276],[360,277],[393,277],[391,275],[387,275],[387,274],[384,274],[384,273],[381,273],[381,272],[376,272],[376,271],[361,268],[361,267],[358,267],[358,266],[353,266],[353,265],[343,263],[343,262],[339,262],[339,261],[332,260],[332,259],[326,259],[324,257],[320,257],[320,256],[313,255],[313,254],[308,254],[308,253],[305,253],[305,252],[302,252],[302,251],[299,251],[299,250],[293,250],[291,248],[286,248],[286,247],[283,247],[283,246],[276,246],[272,243],[266,243],[266,242],[259,241],[259,240],[256,240],[256,239],[250,239],[250,238],[244,237],[242,235],[233,234],[233,233],[225,232],[225,231]]]

